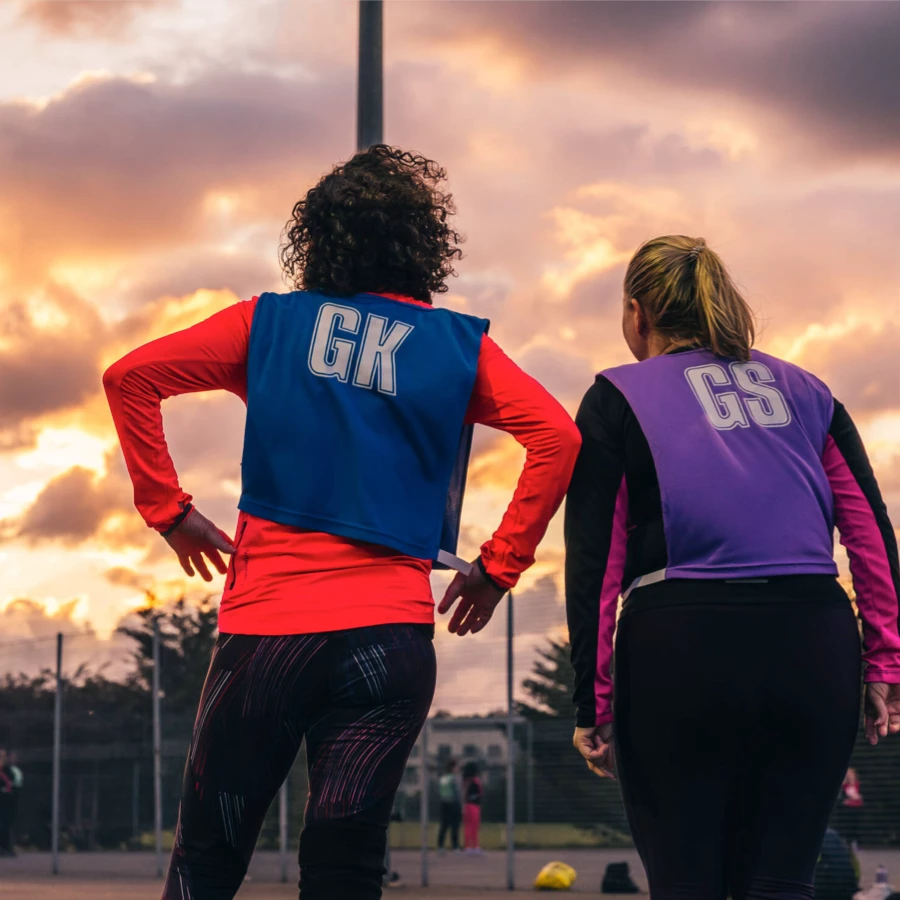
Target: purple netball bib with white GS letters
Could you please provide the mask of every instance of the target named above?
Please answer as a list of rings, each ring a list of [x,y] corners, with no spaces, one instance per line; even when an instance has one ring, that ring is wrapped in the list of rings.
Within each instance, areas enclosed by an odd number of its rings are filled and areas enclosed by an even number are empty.
[[[668,565],[652,580],[837,574],[824,384],[755,350],[749,362],[693,350],[602,374],[656,464]]]

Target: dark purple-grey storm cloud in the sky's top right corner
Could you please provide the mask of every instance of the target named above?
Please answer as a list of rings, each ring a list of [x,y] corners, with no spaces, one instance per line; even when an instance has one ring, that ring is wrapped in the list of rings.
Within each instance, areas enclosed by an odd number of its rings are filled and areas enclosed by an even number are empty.
[[[413,22],[422,40],[489,34],[542,77],[625,68],[777,112],[825,153],[900,154],[900,4],[465,2]]]

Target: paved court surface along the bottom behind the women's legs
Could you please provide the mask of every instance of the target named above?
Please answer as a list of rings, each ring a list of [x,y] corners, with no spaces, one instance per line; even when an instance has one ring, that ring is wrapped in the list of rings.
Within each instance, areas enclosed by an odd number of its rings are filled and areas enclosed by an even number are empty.
[[[534,896],[531,884],[541,866],[560,859],[578,872],[575,891],[599,894],[603,871],[610,862],[629,863],[635,881],[646,891],[643,868],[633,850],[520,850],[516,854],[516,886],[508,893],[506,856],[487,853],[483,857],[429,855],[429,888],[420,887],[421,860],[414,851],[395,851],[393,868],[403,876],[405,887],[385,891],[385,897],[407,900],[476,900],[482,897]],[[900,849],[860,852],[862,882],[868,886],[875,869],[884,864],[891,881],[900,886]],[[0,859],[0,898],[2,900],[159,900],[160,883],[154,877],[152,853],[78,853],[61,857],[61,874],[50,873],[46,853],[23,853],[17,859]],[[280,884],[280,859],[277,853],[260,852],[250,868],[251,880],[241,889],[241,900],[291,900],[296,898],[294,884]],[[291,860],[288,879],[296,879]]]

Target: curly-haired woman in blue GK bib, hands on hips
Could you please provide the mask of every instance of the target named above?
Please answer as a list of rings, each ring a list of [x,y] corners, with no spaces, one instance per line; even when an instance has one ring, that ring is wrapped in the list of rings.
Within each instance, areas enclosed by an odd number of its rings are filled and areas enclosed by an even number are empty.
[[[534,561],[580,438],[487,336],[432,306],[460,257],[431,160],[386,146],[296,204],[281,260],[296,290],[237,303],[115,363],[104,384],[135,504],[188,575],[226,574],[163,897],[237,892],[302,740],[309,802],[300,896],[381,896],[394,794],[435,683],[432,560],[466,423],[526,460],[467,575],[450,631],[480,631]],[[232,541],[195,509],[160,402],[227,390],[247,404]],[[226,564],[222,554],[230,555]]]

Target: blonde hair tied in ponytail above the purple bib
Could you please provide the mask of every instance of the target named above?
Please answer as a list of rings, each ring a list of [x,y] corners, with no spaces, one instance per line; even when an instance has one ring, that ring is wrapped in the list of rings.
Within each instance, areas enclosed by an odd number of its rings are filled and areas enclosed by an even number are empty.
[[[707,347],[717,356],[750,358],[753,313],[703,238],[647,241],[628,264],[625,293],[640,303],[670,348]]]

